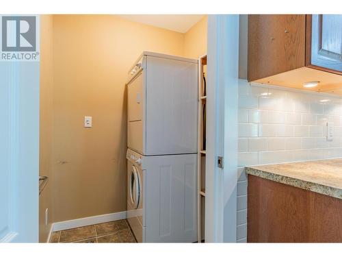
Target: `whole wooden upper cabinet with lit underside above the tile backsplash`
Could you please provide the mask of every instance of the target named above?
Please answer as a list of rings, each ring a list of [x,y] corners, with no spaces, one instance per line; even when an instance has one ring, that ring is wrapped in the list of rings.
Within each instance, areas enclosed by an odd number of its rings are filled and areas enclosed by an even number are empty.
[[[342,95],[342,15],[248,15],[248,81]]]

